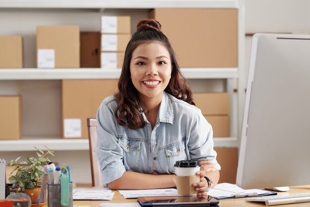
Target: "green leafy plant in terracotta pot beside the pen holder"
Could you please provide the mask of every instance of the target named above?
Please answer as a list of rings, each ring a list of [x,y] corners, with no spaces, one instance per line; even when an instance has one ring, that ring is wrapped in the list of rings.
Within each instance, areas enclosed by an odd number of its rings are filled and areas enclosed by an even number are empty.
[[[15,166],[15,168],[10,175],[16,170],[17,172],[8,179],[13,184],[12,189],[19,187],[21,192],[28,194],[30,198],[34,197],[32,203],[36,203],[38,198],[37,195],[34,195],[34,191],[37,191],[40,194],[42,176],[44,174],[43,167],[51,162],[47,155],[53,155],[53,152],[47,147],[47,152],[43,152],[38,148],[36,149],[38,157],[33,155],[27,157],[30,165],[28,165],[27,161],[19,162],[21,156],[17,157],[15,160],[11,160],[10,166]]]

